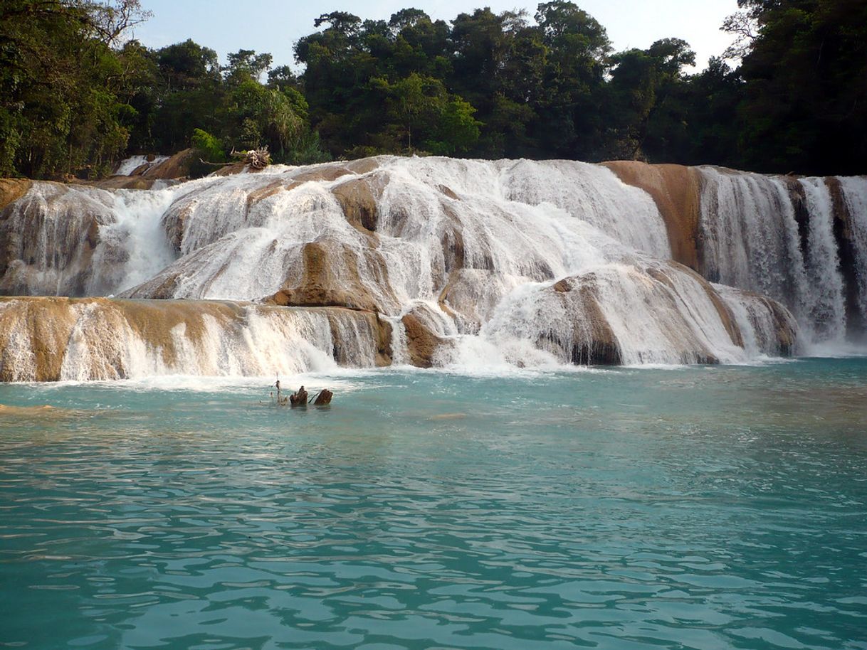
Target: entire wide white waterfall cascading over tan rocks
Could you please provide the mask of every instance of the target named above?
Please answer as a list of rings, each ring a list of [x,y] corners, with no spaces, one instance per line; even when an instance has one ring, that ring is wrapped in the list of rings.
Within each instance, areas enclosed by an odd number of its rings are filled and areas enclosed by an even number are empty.
[[[189,302],[205,312],[195,325],[192,312],[160,316],[157,335],[135,324],[135,301],[117,302],[123,315],[51,303],[68,341],[50,334],[65,352],[49,375],[66,379],[791,354],[792,316],[765,296],[792,310],[807,343],[843,341],[851,308],[829,182],[698,173],[696,270],[717,284],[668,262],[684,233],[606,167],[380,157],[149,191],[34,183],[0,212],[0,292],[274,305],[230,317],[230,303]],[[867,322],[867,180],[838,182]],[[13,314],[36,308],[0,304],[2,372],[36,377],[12,369],[39,366],[12,349],[46,335],[25,341]]]

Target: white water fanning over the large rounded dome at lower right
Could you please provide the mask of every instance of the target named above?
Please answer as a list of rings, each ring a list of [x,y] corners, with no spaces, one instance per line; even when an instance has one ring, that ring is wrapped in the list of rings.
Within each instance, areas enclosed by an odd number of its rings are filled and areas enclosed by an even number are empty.
[[[645,263],[522,287],[500,305],[482,337],[535,342],[563,363],[746,361],[706,282],[682,267]]]

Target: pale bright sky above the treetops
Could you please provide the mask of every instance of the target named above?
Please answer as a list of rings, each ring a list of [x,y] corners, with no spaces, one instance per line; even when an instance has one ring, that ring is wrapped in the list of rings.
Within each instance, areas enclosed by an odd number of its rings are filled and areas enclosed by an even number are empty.
[[[646,49],[661,38],[687,41],[695,51],[697,68],[705,68],[710,56],[718,56],[732,42],[720,31],[723,19],[738,9],[737,0],[573,0],[608,30],[619,51]],[[215,49],[221,62],[238,49],[271,52],[273,65],[295,64],[293,44],[314,31],[313,20],[323,13],[341,10],[362,19],[388,18],[396,11],[415,7],[433,20],[452,20],[477,7],[499,13],[526,9],[532,18],[538,2],[525,0],[141,0],[153,17],[139,25],[134,37],[151,48],[192,38]]]

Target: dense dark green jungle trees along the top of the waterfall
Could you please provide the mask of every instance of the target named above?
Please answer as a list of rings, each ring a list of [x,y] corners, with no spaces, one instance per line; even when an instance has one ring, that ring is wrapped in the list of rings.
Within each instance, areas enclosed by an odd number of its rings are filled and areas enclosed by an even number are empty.
[[[253,50],[221,66],[192,40],[128,40],[140,0],[0,0],[0,175],[264,145],[292,164],[433,153],[865,172],[867,2],[738,3],[733,46],[697,74],[687,42],[615,52],[592,16],[551,0],[450,23],[323,14],[295,44],[297,75]]]

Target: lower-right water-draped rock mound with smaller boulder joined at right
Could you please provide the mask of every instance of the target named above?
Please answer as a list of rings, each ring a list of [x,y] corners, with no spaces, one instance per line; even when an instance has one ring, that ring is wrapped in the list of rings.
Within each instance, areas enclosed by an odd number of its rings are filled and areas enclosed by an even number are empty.
[[[578,365],[715,364],[792,354],[796,328],[779,302],[720,292],[675,263],[617,264],[569,276],[512,305],[494,340],[518,335]],[[734,307],[737,307],[735,313]],[[744,350],[748,328],[754,349]]]

